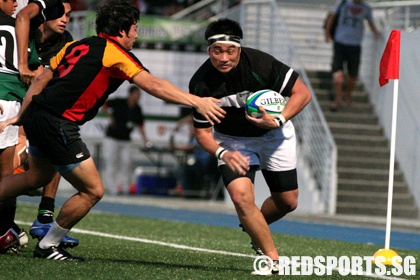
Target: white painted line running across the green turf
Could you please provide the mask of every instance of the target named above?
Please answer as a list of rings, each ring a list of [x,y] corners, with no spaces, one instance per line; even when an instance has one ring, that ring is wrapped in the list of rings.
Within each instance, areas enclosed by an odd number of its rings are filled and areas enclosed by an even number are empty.
[[[24,225],[32,225],[32,223],[27,223],[23,221],[16,221],[17,224],[24,224]],[[205,248],[199,248],[199,247],[191,247],[186,245],[180,245],[175,243],[168,243],[163,241],[157,241],[157,240],[151,240],[151,239],[144,239],[144,238],[137,238],[137,237],[129,237],[124,235],[115,235],[115,234],[109,234],[109,233],[103,233],[99,231],[91,231],[91,230],[84,230],[84,229],[78,229],[78,228],[72,228],[72,232],[81,233],[81,234],[88,234],[88,235],[94,235],[94,236],[100,236],[100,237],[108,237],[108,238],[114,238],[119,240],[127,240],[127,241],[134,241],[134,242],[141,242],[141,243],[147,243],[147,244],[155,244],[155,245],[161,245],[181,250],[191,250],[191,251],[197,251],[197,252],[204,252],[204,253],[212,253],[212,254],[219,254],[219,255],[227,255],[227,256],[235,256],[235,257],[246,257],[246,258],[256,258],[256,255],[248,255],[248,254],[241,254],[241,253],[234,253],[234,252],[228,252],[228,251],[220,251],[220,250],[211,250],[211,249],[205,249]],[[297,262],[291,262],[298,264]],[[299,264],[301,266],[302,264]],[[331,270],[338,271],[339,269],[336,267],[332,267]],[[356,275],[356,272],[354,271],[354,274],[351,272],[348,275]],[[389,277],[389,276],[382,276],[382,275],[375,275],[368,272],[363,271],[362,275],[360,276],[366,276],[370,278],[375,279],[386,279],[386,280],[401,280],[404,278],[398,278],[398,277]]]

